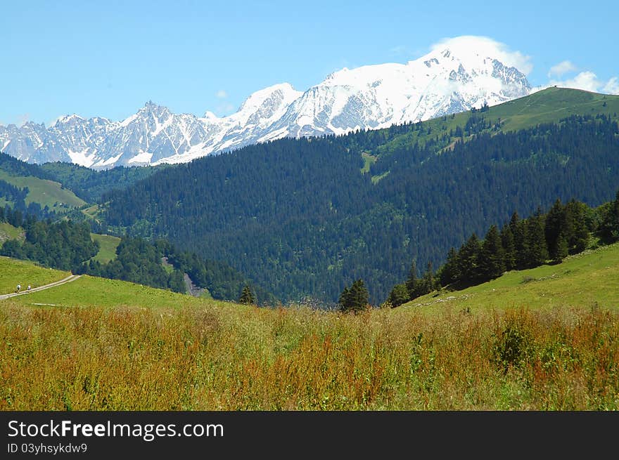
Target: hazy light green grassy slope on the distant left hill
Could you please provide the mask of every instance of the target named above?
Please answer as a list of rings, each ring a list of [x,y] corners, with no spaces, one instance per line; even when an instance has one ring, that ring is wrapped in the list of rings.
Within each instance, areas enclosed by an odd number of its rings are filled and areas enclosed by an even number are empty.
[[[68,204],[71,207],[79,207],[86,204],[83,199],[76,197],[75,193],[63,189],[60,183],[53,180],[39,179],[32,176],[11,176],[6,171],[0,171],[0,179],[6,180],[6,182],[18,188],[27,187],[30,189],[25,199],[26,204],[35,202],[41,204],[41,207],[49,206],[49,209],[56,209],[57,211],[63,208],[60,205],[55,206],[56,203]]]

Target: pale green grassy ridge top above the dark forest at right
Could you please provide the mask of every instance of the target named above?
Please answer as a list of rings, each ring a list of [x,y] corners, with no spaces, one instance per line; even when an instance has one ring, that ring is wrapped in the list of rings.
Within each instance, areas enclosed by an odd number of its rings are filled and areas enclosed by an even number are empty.
[[[604,105],[606,104],[606,106]],[[617,118],[619,114],[619,96],[609,96],[569,88],[547,88],[530,96],[511,100],[508,103],[490,107],[486,112],[478,112],[488,121],[501,121],[502,131],[516,131],[540,123],[559,121],[571,115],[606,114]],[[378,147],[378,155],[390,152],[395,147],[419,142],[435,136],[443,136],[457,126],[464,129],[471,112],[461,112],[452,117],[440,117],[423,121],[423,131],[403,134]],[[428,128],[430,133],[428,134]],[[452,141],[456,138],[452,138]]]

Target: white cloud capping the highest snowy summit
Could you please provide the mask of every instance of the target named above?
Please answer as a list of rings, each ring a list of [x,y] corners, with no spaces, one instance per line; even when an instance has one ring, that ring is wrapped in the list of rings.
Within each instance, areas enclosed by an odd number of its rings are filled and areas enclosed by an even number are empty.
[[[528,75],[533,70],[531,58],[520,51],[511,51],[506,44],[476,35],[462,35],[461,37],[445,38],[430,46],[432,51],[447,47],[458,53],[476,52],[486,56],[497,58],[504,65],[516,67],[516,69]]]

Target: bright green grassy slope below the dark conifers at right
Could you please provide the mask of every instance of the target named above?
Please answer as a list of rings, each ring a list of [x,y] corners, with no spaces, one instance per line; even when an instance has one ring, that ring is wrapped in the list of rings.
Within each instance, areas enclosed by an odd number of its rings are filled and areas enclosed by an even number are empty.
[[[619,311],[619,244],[587,250],[557,265],[508,272],[461,291],[442,291],[414,299],[398,309],[437,313],[506,308],[580,308],[590,305]]]

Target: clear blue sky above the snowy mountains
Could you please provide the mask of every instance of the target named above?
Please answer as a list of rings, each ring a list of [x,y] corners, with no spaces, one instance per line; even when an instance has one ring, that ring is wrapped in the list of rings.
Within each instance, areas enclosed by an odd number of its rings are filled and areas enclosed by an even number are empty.
[[[619,92],[617,18],[606,0],[3,1],[0,124],[120,120],[147,100],[221,116],[265,86],[305,90],[461,35],[528,56],[533,86]]]

